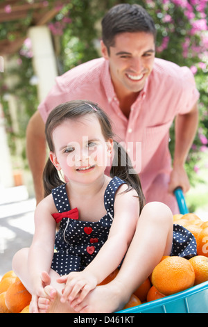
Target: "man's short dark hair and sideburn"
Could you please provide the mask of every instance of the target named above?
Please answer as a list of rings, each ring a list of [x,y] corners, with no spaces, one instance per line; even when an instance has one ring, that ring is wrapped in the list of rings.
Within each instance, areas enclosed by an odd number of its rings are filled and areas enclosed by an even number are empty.
[[[110,53],[110,47],[114,46],[114,38],[119,33],[146,32],[156,38],[156,29],[152,17],[146,10],[137,5],[121,3],[112,7],[102,19],[103,43]]]

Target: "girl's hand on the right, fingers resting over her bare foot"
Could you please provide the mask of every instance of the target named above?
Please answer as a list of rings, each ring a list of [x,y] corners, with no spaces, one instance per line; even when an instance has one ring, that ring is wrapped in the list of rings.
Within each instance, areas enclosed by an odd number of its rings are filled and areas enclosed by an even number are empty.
[[[97,285],[96,278],[92,273],[85,271],[69,273],[69,275],[62,276],[57,280],[60,283],[66,283],[66,287],[62,292],[60,301],[73,301],[76,298],[76,303],[81,303],[85,296],[94,289]]]

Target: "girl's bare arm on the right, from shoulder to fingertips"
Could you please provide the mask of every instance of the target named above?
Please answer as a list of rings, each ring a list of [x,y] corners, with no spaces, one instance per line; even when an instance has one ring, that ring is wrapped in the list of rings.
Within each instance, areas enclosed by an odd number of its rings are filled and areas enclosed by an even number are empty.
[[[62,302],[73,299],[80,290],[79,301],[88,292],[102,282],[114,271],[123,259],[135,233],[139,218],[139,199],[135,190],[123,193],[126,184],[120,186],[114,202],[114,219],[107,241],[102,246],[94,260],[80,273],[70,273],[67,278],[59,278],[67,282],[62,295]],[[91,287],[89,287],[91,285]]]

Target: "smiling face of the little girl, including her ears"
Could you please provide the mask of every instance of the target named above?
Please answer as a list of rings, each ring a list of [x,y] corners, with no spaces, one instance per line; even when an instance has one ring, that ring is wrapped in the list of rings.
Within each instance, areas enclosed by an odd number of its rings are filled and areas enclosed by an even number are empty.
[[[94,115],[65,120],[53,130],[52,137],[55,152],[50,152],[50,159],[68,180],[92,182],[104,173],[113,141],[105,140]]]

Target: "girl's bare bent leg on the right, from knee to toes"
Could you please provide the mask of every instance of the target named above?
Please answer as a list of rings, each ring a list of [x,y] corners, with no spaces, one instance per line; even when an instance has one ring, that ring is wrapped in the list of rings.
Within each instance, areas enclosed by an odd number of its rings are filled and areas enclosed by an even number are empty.
[[[121,310],[163,255],[170,255],[173,241],[173,214],[160,202],[148,203],[141,212],[137,229],[121,269],[107,285],[96,287],[83,303],[71,305],[79,312]]]

